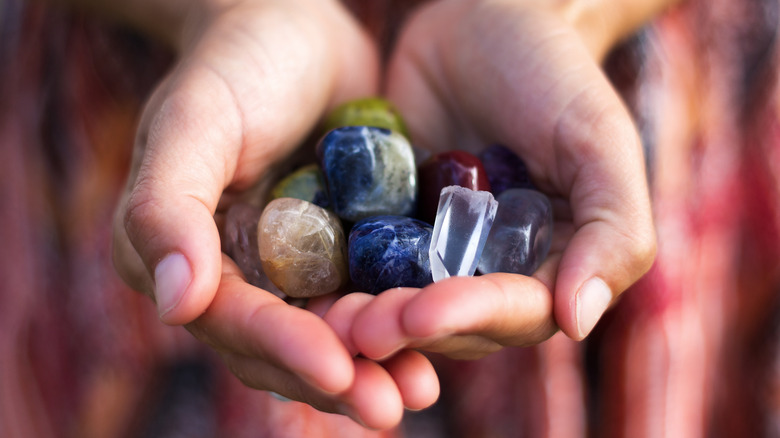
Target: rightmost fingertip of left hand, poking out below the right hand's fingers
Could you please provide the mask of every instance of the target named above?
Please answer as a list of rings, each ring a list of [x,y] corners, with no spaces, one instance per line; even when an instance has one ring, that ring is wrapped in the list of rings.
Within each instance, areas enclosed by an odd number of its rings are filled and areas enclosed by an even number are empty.
[[[398,386],[404,406],[411,410],[430,407],[439,398],[439,379],[431,362],[414,350],[402,351],[382,362]]]

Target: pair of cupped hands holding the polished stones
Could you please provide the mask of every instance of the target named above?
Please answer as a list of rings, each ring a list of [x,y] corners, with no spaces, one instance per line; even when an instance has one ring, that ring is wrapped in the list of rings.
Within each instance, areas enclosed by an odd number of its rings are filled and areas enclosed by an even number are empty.
[[[186,324],[248,386],[392,427],[404,408],[438,397],[417,349],[477,358],[558,328],[582,339],[649,268],[638,136],[599,68],[603,48],[564,8],[428,4],[380,72],[374,43],[336,0],[223,3],[188,21],[180,60],[144,111],[114,259],[163,322]],[[272,178],[330,108],[379,94],[417,146],[500,142],[524,158],[555,206],[553,248],[536,274],[322,297],[308,309],[243,280],[221,254],[215,214]]]

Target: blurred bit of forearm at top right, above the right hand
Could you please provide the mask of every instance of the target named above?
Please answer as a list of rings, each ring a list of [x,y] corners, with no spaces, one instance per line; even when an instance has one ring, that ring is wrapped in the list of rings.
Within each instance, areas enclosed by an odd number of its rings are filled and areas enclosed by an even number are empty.
[[[666,8],[683,0],[558,0],[591,53],[601,60],[609,50]]]

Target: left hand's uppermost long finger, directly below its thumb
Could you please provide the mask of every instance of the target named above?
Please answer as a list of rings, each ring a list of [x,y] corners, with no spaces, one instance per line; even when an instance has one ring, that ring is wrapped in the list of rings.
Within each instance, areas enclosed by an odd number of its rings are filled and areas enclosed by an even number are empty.
[[[263,359],[323,392],[352,385],[351,356],[325,321],[247,284],[228,259],[224,266],[218,293],[188,330],[218,351]]]

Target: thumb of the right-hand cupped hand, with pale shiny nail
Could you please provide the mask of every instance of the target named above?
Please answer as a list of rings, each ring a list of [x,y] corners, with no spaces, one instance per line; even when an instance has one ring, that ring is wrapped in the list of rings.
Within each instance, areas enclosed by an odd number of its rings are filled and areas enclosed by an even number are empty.
[[[593,92],[609,95],[608,89]],[[568,181],[574,234],[555,283],[556,321],[576,340],[585,338],[614,297],[647,272],[656,251],[643,154],[633,123],[616,99],[597,112],[592,102],[572,103],[558,125],[558,140],[583,158],[571,160],[577,168]]]

